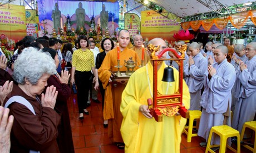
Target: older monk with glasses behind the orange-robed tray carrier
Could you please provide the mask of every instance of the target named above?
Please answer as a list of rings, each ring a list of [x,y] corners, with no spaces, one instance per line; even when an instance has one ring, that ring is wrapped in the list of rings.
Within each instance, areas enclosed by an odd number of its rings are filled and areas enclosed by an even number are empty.
[[[136,34],[134,36],[134,47],[132,47],[131,50],[134,50],[139,55],[140,61],[142,58],[142,48],[143,48],[142,45],[143,45],[142,36],[140,36],[140,34]],[[147,47],[147,46],[144,46],[144,47]],[[149,62],[149,56],[147,56],[146,48],[144,48],[143,60],[144,60],[143,65],[145,66],[147,64],[147,62]]]

